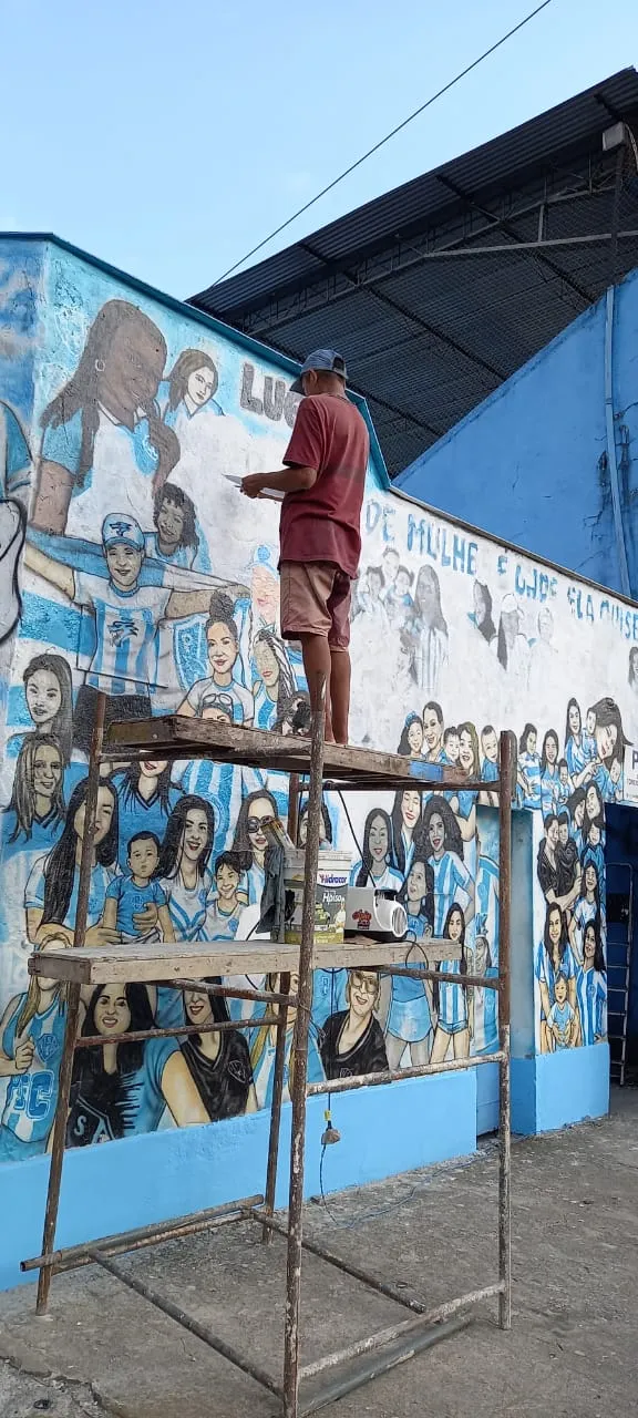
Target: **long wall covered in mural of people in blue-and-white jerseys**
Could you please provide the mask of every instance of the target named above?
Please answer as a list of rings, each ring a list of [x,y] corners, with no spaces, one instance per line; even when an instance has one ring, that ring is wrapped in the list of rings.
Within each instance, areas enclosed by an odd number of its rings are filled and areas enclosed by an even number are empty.
[[[14,1225],[0,1283],[11,1285],[40,1244],[65,1021],[64,995],[30,983],[27,959],[72,939],[96,689],[113,718],[180,710],[286,732],[306,685],[279,634],[276,508],[227,478],[281,464],[293,366],[54,238],[6,238],[1,258],[0,1207]],[[515,730],[522,1132],[607,1109],[605,810],[631,801],[637,654],[638,605],[397,493],[371,430],[352,740],[459,763],[485,791],[354,794],[347,813],[330,800],[325,839],[352,852],[353,883],[400,892],[407,949],[447,936],[466,968],[496,974],[489,784],[498,732]],[[244,939],[258,919],[261,824],[285,801],[278,774],[109,764],[91,940]],[[454,974],[430,993],[383,971],[318,971],[310,1078],[491,1052],[491,1003],[476,993],[468,1005]],[[216,1037],[218,1054],[116,1042],[207,1010],[169,988],[85,1000],[82,1028],[105,1044],[74,1075],[60,1244],[259,1190],[274,1052],[259,1018]],[[481,1068],[345,1096],[323,1185],[471,1151],[495,1126],[496,1086]],[[322,1127],[315,1099],[309,1193]],[[284,1198],[285,1159],[281,1178]]]

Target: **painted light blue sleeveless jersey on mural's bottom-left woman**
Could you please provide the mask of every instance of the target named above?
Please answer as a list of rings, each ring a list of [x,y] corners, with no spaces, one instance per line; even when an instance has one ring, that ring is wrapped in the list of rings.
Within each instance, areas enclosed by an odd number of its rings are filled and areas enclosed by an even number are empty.
[[[28,1153],[44,1151],[55,1116],[65,1027],[64,1000],[58,995],[48,1010],[34,1014],[18,1034],[18,1021],[26,1003],[27,994],[16,1000],[16,1008],[0,1041],[7,1058],[14,1058],[18,1039],[30,1038],[35,1051],[30,1069],[9,1079],[0,1124],[0,1161],[10,1160],[23,1150],[20,1146],[13,1149],[14,1140],[18,1144],[28,1144]]]

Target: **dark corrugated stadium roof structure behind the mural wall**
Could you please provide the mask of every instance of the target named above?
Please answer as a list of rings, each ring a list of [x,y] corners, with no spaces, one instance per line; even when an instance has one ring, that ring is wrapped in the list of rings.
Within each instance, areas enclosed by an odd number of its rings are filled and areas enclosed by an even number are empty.
[[[631,129],[627,68],[190,303],[293,359],[342,350],[396,475],[638,265]]]

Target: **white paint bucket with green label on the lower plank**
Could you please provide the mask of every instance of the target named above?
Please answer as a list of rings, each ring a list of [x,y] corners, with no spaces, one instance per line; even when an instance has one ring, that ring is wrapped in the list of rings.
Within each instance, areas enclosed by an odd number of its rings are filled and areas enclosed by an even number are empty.
[[[284,940],[301,944],[303,910],[303,851],[286,851],[284,858],[284,886],[286,893]],[[319,854],[315,893],[315,940],[319,946],[342,946],[346,925],[346,892],[350,879],[349,852]]]

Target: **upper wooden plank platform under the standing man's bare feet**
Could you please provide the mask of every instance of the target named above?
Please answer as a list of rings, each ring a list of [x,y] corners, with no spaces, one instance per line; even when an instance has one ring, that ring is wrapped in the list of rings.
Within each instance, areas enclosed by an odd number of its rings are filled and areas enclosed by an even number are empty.
[[[103,737],[102,759],[214,759],[216,763],[240,763],[244,767],[264,767],[281,773],[308,773],[310,740],[295,739],[264,729],[238,729],[210,719],[186,719],[183,715],[162,715],[155,719],[126,719],[109,725]],[[342,749],[326,743],[323,777],[336,778],[343,786],[396,788],[401,783],[434,790],[445,787],[479,788],[485,783],[469,783],[458,769],[447,764],[404,759],[398,753],[376,753],[370,749]],[[498,783],[488,784],[491,791]]]

